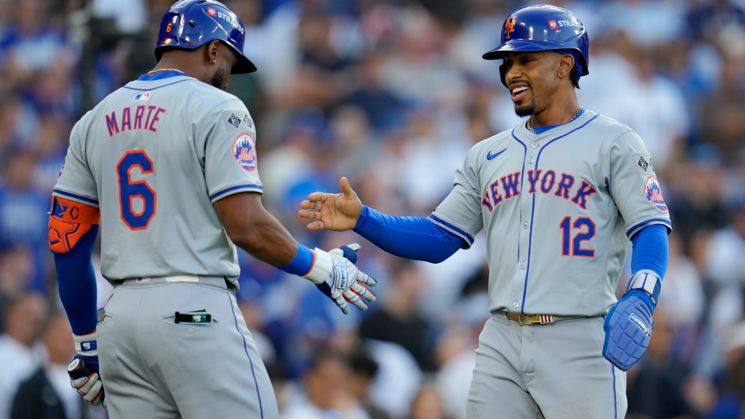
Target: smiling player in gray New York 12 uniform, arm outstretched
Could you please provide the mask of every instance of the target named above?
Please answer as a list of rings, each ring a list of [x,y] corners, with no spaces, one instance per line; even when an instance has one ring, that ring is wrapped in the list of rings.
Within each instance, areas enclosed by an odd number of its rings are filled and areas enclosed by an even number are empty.
[[[568,10],[511,13],[500,67],[512,130],[475,145],[454,189],[427,218],[316,192],[299,215],[310,230],[354,229],[410,259],[440,262],[486,230],[489,311],[477,350],[472,419],[622,419],[625,372],[649,342],[668,259],[668,207],[647,147],[626,125],[584,110],[589,40]],[[615,297],[629,242],[633,278]]]

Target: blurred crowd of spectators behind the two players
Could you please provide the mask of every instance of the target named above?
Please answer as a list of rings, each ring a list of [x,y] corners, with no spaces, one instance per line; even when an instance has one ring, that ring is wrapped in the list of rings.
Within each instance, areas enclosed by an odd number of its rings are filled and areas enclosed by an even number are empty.
[[[47,211],[72,126],[152,69],[170,4],[0,0],[0,419],[105,418],[66,377],[73,347]],[[359,265],[379,282],[370,310],[344,316],[307,280],[241,252],[238,300],[282,419],[465,418],[489,317],[484,237],[432,265],[355,233],[309,233],[297,210],[346,176],[370,207],[428,215],[466,151],[520,120],[499,62],[481,54],[527,3],[226,4],[259,67],[233,75],[229,92],[258,127],[264,205],[305,245],[360,242]],[[745,1],[554,4],[589,33],[580,104],[641,135],[673,219],[652,341],[627,375],[627,418],[745,418]],[[111,288],[98,285],[104,306]]]

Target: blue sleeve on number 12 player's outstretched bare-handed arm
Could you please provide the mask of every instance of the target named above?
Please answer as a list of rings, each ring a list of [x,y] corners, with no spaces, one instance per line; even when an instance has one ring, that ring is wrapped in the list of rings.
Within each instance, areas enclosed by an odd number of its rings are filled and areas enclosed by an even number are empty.
[[[396,217],[362,208],[355,231],[378,248],[406,259],[440,263],[467,243],[424,217]]]

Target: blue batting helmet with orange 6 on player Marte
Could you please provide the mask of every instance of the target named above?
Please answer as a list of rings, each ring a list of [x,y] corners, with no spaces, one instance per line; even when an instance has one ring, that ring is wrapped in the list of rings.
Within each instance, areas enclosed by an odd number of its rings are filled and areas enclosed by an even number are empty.
[[[174,3],[160,21],[155,57],[160,61],[163,51],[168,49],[195,49],[214,40],[225,42],[238,55],[231,74],[256,71],[256,66],[243,54],[246,42],[243,22],[225,4],[215,0]]]

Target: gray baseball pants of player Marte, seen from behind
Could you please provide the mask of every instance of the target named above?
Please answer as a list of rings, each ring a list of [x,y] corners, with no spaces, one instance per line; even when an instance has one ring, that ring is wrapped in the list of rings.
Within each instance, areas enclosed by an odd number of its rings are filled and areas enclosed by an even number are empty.
[[[206,310],[212,324],[176,324]],[[274,391],[223,277],[115,286],[98,323],[98,359],[112,419],[276,419]]]

